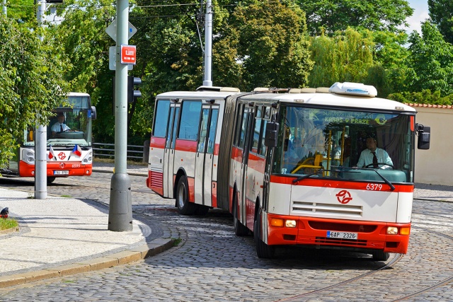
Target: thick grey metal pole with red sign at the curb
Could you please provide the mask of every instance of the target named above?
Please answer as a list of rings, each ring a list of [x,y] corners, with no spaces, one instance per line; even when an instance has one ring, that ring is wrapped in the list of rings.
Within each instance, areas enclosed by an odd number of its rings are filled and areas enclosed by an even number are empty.
[[[127,64],[121,64],[121,45],[127,45],[129,0],[117,0],[115,69],[115,173],[110,183],[108,229],[132,231],[131,182],[127,175]]]

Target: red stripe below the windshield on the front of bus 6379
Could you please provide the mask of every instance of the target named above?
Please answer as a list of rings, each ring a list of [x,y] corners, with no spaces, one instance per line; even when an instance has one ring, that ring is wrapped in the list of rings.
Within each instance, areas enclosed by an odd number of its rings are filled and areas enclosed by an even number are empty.
[[[281,183],[284,185],[294,185],[292,183],[292,180],[295,180],[296,178],[291,178],[287,176],[277,176],[277,175],[271,175],[270,176],[270,182],[274,183]],[[376,183],[370,180],[369,182],[362,181],[362,182],[351,182],[351,181],[339,181],[339,180],[315,180],[315,179],[309,179],[306,178],[304,180],[301,180],[297,182],[296,185],[304,185],[307,187],[338,187],[342,189],[351,189],[351,190],[368,190],[367,185],[369,183]],[[413,192],[413,185],[408,184],[408,185],[394,185],[395,190],[392,192]],[[380,191],[391,191],[389,185],[382,184],[382,189]]]

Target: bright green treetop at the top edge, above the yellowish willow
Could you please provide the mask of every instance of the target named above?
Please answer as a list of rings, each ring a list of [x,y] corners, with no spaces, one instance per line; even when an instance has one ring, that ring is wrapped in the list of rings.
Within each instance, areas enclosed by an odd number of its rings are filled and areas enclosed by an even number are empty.
[[[408,25],[406,18],[412,16],[406,0],[297,0],[306,12],[306,23],[312,36],[333,35],[348,27],[372,31],[401,33],[401,25]]]

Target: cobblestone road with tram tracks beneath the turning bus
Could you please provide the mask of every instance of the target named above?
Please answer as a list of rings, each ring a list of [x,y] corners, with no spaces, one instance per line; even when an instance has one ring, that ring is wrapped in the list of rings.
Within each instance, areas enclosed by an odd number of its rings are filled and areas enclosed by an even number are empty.
[[[110,178],[95,173],[89,181],[56,180],[48,192],[106,204]],[[408,254],[391,269],[364,276],[385,263],[365,254],[301,248],[259,259],[253,238],[234,236],[225,211],[180,216],[173,199],[153,194],[143,177],[130,178],[134,213],[168,225],[180,245],[130,265],[0,289],[0,301],[397,301],[427,289],[406,301],[453,301],[453,203],[423,200],[447,200],[448,190],[423,189],[426,196],[414,203]],[[13,185],[33,190],[26,180]],[[361,278],[338,285],[355,277]]]

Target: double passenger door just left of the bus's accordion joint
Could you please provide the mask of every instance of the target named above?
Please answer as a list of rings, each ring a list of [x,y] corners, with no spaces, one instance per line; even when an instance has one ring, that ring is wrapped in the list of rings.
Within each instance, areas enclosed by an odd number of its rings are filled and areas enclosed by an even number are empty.
[[[212,164],[219,108],[203,105],[195,157],[195,203],[212,206]]]

